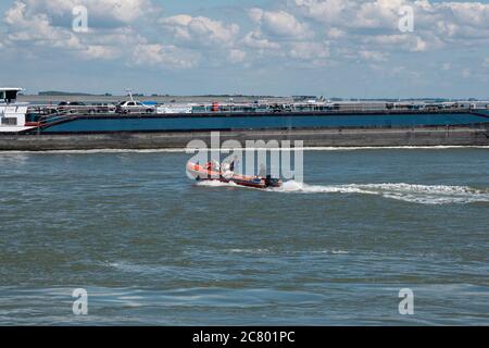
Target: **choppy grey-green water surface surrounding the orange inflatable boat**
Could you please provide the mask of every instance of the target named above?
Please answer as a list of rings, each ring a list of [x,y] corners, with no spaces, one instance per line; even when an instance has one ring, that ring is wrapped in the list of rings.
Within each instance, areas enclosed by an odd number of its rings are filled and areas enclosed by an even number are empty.
[[[489,324],[489,149],[306,151],[267,191],[188,158],[0,153],[0,324]]]

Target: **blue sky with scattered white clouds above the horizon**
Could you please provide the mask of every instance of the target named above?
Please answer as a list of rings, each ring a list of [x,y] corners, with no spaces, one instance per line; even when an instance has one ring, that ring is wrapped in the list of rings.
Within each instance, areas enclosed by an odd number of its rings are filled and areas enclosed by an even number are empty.
[[[0,15],[0,86],[27,94],[489,99],[489,1],[2,0]]]

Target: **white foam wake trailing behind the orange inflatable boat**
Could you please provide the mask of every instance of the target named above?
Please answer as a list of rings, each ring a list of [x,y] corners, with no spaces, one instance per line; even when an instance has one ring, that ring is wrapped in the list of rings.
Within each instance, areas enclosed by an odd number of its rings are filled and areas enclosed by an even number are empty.
[[[277,192],[299,194],[363,194],[379,195],[422,204],[450,204],[489,202],[489,188],[476,189],[467,186],[417,185],[417,184],[350,184],[350,185],[308,185],[297,182],[284,183]]]

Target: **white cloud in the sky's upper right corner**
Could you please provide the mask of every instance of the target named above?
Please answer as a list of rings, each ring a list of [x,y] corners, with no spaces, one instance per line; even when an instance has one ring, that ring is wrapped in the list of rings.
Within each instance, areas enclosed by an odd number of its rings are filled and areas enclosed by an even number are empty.
[[[489,4],[481,2],[429,2],[428,0],[293,0],[299,13],[336,33],[352,36],[401,34],[400,9],[413,9],[415,33],[421,40],[415,50],[437,48],[455,39],[489,40]],[[331,32],[333,30],[333,32]],[[405,33],[404,35],[413,35]],[[430,42],[430,41],[434,42]],[[424,45],[424,44],[425,45]]]

